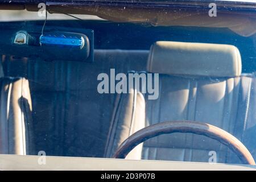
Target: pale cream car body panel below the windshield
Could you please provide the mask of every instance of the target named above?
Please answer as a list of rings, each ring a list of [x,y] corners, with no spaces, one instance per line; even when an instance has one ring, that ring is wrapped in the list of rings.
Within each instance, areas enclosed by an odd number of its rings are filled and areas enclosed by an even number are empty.
[[[45,160],[43,159],[45,157]],[[60,156],[36,155],[0,155],[1,170],[106,170],[106,171],[131,171],[131,170],[256,170],[250,165],[210,164],[195,162],[170,162],[159,160],[127,160],[104,158],[77,158]],[[39,161],[39,162],[38,162]],[[40,163],[45,161],[46,163]],[[39,164],[40,163],[40,164]]]

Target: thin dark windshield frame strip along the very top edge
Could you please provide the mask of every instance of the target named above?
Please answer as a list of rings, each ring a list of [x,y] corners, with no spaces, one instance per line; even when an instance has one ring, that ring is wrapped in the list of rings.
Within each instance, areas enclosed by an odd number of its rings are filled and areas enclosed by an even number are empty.
[[[248,2],[250,1],[250,2]],[[237,8],[237,10],[242,9],[252,9],[256,10],[256,2],[253,0],[246,1],[233,1],[233,0],[174,0],[174,1],[155,1],[155,0],[96,0],[96,1],[70,1],[70,0],[50,0],[50,1],[42,1],[42,0],[14,0],[7,1],[3,0],[0,2],[0,5],[5,5],[9,7],[11,5],[38,5],[39,3],[46,3],[46,5],[65,5],[65,6],[92,6],[92,5],[108,5],[108,6],[133,6],[133,7],[147,7],[147,8],[157,8],[157,7],[187,7],[191,9],[193,7],[205,7],[209,5],[209,3],[216,3],[216,5],[220,7],[224,7],[225,9],[233,7]],[[15,8],[13,6],[13,8]],[[20,6],[17,8],[20,9]],[[25,8],[25,7],[24,7]],[[1,9],[1,7],[0,7]]]

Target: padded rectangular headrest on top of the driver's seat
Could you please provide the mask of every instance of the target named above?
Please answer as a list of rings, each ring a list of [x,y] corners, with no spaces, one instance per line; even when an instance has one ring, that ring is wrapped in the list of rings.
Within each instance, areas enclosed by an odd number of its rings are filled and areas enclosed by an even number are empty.
[[[167,75],[236,77],[242,63],[237,47],[224,44],[156,42],[147,71]]]

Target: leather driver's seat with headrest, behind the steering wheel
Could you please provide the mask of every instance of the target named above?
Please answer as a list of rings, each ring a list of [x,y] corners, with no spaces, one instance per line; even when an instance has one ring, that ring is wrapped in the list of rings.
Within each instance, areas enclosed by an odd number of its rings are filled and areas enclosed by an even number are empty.
[[[254,74],[241,75],[241,56],[234,46],[156,42],[148,57],[149,73],[159,73],[159,97],[135,91],[120,94],[115,105],[105,156],[145,126],[191,120],[220,127],[241,140],[255,158]],[[175,133],[147,140],[128,159],[208,162],[215,151],[218,163],[240,163],[228,147],[195,134]]]

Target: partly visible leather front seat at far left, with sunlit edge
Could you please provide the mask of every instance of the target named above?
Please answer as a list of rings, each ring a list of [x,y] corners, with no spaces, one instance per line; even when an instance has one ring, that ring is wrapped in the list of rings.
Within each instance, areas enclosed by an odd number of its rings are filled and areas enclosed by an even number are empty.
[[[0,154],[31,154],[31,97],[28,81],[0,78]]]

